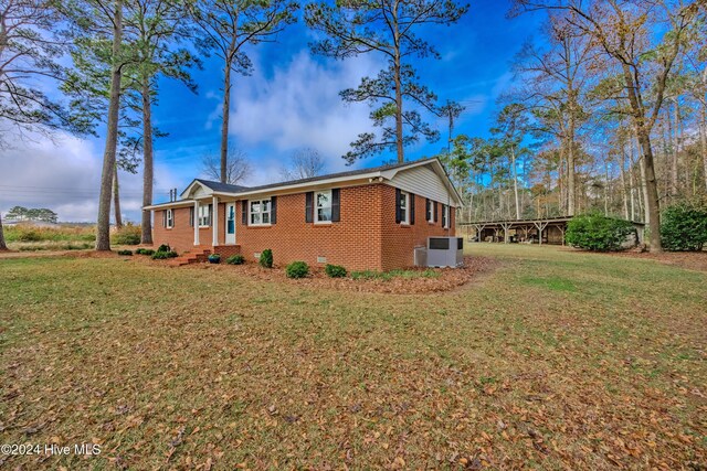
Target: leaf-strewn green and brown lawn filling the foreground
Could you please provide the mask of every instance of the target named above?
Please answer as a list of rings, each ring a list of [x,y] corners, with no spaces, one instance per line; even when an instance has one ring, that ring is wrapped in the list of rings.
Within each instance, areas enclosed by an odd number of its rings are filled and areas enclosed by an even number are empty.
[[[481,244],[435,295],[0,259],[15,469],[705,469],[707,272]]]

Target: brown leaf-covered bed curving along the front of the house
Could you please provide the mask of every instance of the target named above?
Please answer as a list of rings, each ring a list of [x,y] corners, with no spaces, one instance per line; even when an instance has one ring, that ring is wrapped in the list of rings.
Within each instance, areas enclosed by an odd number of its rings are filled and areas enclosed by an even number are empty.
[[[324,268],[310,267],[309,276],[302,279],[287,278],[284,267],[268,269],[253,263],[245,265],[198,264],[180,267],[180,269],[221,270],[303,288],[415,295],[450,291],[463,287],[492,272],[498,265],[499,261],[494,258],[474,256],[464,257],[464,266],[461,268],[410,268],[387,274],[354,272],[348,274],[345,278],[329,278]]]

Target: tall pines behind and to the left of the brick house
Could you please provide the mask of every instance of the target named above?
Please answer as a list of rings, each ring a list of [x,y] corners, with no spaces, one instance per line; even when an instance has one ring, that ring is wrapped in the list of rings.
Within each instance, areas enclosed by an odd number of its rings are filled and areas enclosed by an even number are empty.
[[[118,170],[141,171],[143,203],[152,203],[154,149],[163,136],[152,113],[162,78],[197,92],[191,71],[202,67],[204,57],[219,63],[220,154],[205,167],[230,181],[242,170],[233,163],[238,156],[229,156],[234,77],[253,69],[253,47],[277,41],[302,19],[315,38],[313,54],[335,60],[373,54],[384,64],[340,93],[345,101],[371,105],[376,129],[359,135],[344,158],[354,162],[391,151],[403,161],[407,146],[439,138],[425,116],[455,113],[451,101],[437,105],[414,65],[440,57],[433,30],[456,23],[467,9],[453,0],[0,0],[0,124],[11,125],[0,132],[0,144],[8,136],[105,129],[96,249],[106,250],[112,200],[120,225]],[[54,81],[65,99],[53,99],[38,79]],[[312,159],[303,162],[295,160],[287,174],[302,174],[303,165],[305,172],[316,170]],[[0,221],[0,248],[1,231]],[[141,242],[151,244],[149,212],[143,214],[141,232]]]

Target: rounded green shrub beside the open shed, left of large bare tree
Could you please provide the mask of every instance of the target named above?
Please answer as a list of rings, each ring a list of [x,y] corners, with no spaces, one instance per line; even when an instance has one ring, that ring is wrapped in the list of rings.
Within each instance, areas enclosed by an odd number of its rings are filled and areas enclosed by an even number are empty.
[[[635,234],[629,221],[614,220],[599,213],[574,216],[567,225],[564,240],[587,250],[621,250],[626,238]]]

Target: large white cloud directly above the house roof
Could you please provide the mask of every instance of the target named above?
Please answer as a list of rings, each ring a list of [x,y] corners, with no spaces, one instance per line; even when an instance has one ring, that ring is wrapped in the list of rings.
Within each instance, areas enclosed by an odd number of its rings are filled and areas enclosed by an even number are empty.
[[[277,152],[265,158],[267,171],[249,183],[277,180],[282,159],[303,147],[317,149],[326,159],[327,171],[344,170],[341,156],[360,132],[371,129],[371,122],[366,104],[347,105],[339,92],[357,86],[362,76],[379,68],[370,56],[323,64],[303,50],[277,66],[271,78],[257,64],[253,76],[238,77],[231,136],[244,148],[267,143]]]

